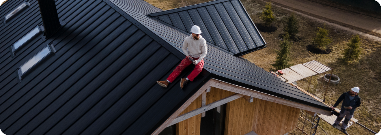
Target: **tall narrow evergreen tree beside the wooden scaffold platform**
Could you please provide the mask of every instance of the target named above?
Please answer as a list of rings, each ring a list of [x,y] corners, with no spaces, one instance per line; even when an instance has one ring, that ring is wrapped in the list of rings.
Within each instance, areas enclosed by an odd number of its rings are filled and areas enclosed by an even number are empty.
[[[288,34],[287,30],[285,35],[283,35],[283,41],[280,42],[280,50],[277,50],[277,57],[276,60],[274,61],[275,64],[271,64],[272,67],[275,68],[275,70],[281,70],[287,67],[290,67],[291,64],[290,62],[290,47],[291,47],[291,42],[290,40],[290,35]]]

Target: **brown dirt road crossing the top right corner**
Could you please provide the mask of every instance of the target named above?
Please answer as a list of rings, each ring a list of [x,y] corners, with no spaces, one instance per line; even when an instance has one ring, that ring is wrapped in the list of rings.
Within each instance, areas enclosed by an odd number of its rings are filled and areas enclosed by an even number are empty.
[[[335,23],[350,29],[381,37],[381,19],[333,8],[308,0],[270,0],[275,5]]]

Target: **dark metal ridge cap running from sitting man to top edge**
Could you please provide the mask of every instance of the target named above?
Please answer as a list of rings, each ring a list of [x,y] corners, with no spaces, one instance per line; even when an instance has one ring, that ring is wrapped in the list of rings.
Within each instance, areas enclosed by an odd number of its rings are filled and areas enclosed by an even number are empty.
[[[170,51],[172,54],[174,54],[179,59],[184,59],[184,54],[182,52],[179,52],[176,48],[174,48],[171,44],[169,44],[167,41],[165,41],[162,37],[158,36],[154,32],[152,32],[150,29],[148,29],[146,26],[141,24],[138,20],[134,19],[132,16],[127,14],[125,11],[120,9],[117,5],[110,2],[110,0],[102,0],[107,5],[109,5],[111,8],[113,8],[115,11],[117,11],[120,15],[128,19],[132,24],[134,24],[136,27],[138,27],[140,30],[142,30],[144,33],[146,33],[149,37],[151,37],[153,40],[157,41],[160,45],[162,45],[165,49]]]

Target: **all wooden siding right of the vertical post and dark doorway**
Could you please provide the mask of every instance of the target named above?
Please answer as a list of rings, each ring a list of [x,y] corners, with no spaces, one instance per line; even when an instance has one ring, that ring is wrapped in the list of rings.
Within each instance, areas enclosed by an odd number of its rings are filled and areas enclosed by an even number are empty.
[[[209,104],[232,94],[234,92],[211,87],[206,102]],[[245,135],[251,131],[258,135],[283,135],[296,128],[298,116],[298,108],[259,98],[251,103],[239,98],[227,103],[225,135]]]

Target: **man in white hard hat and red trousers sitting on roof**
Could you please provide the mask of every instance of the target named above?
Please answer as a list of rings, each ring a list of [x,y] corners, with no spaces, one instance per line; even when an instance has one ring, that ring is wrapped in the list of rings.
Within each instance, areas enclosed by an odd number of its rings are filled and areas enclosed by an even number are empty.
[[[187,78],[182,78],[180,80],[181,89],[189,81],[193,81],[199,73],[201,73],[204,67],[204,57],[207,56],[207,42],[202,38],[200,27],[194,25],[191,29],[192,35],[186,37],[184,40],[184,45],[182,45],[182,51],[186,57],[181,61],[181,63],[173,70],[171,75],[165,81],[156,81],[160,86],[167,87],[169,83],[173,82],[177,76],[180,75],[181,71],[192,63],[195,65],[192,73],[188,75]],[[188,50],[187,50],[188,48]]]

